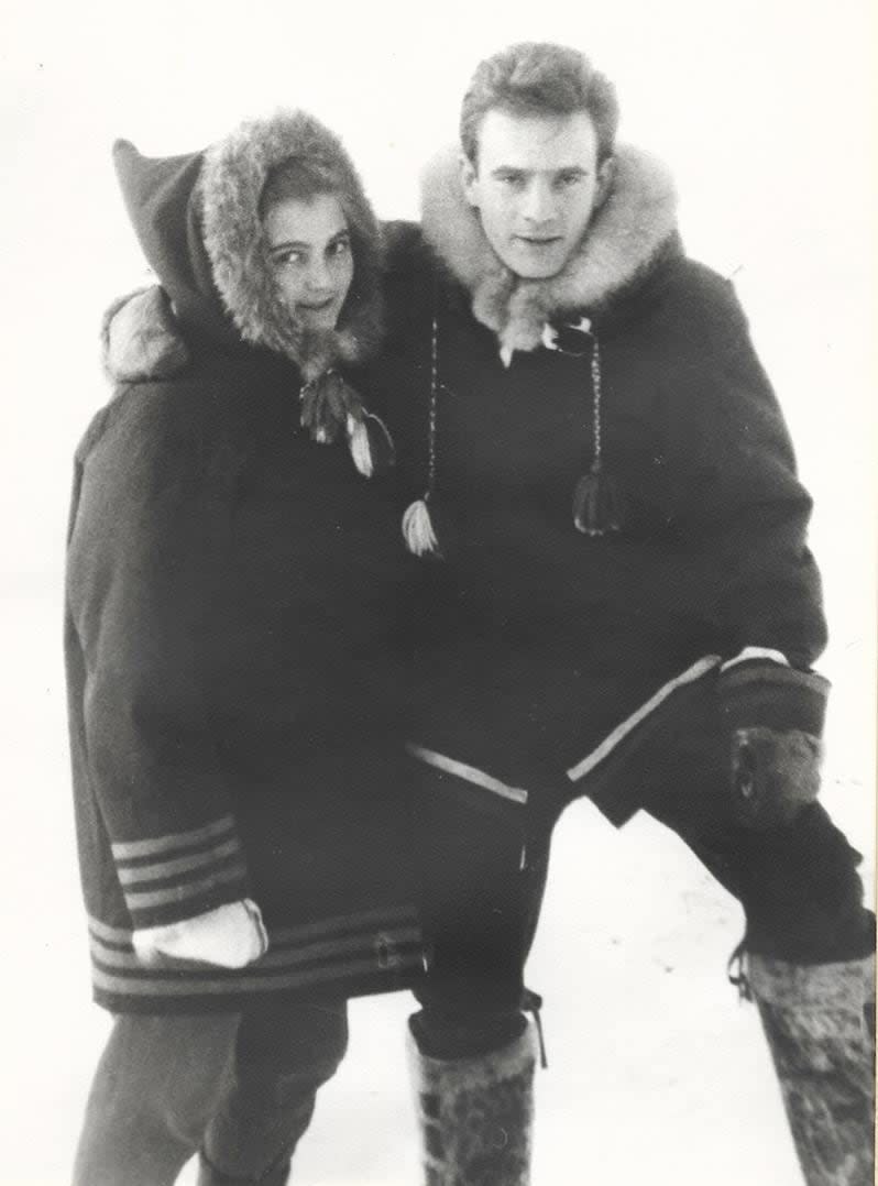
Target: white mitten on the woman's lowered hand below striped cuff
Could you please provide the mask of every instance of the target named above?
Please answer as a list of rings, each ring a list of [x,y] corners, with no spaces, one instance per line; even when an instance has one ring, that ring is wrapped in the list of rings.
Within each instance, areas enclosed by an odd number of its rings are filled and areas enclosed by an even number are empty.
[[[225,903],[167,926],[135,931],[132,942],[147,964],[160,962],[164,955],[218,968],[244,968],[268,950],[262,914],[249,898]]]

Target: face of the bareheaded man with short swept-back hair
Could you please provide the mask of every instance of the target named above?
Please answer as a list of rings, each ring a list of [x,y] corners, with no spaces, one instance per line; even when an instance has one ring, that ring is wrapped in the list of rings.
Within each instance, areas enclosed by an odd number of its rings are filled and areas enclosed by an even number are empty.
[[[579,247],[610,183],[598,168],[598,138],[586,111],[515,115],[491,108],[478,160],[462,164],[464,190],[488,242],[516,275],[558,275]]]

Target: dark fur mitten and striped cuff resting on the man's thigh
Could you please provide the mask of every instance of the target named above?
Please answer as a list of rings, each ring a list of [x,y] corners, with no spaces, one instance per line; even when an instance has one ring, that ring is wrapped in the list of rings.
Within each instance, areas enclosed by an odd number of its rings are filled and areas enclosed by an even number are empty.
[[[723,670],[720,720],[740,823],[783,827],[817,797],[828,691],[822,676],[763,658]]]

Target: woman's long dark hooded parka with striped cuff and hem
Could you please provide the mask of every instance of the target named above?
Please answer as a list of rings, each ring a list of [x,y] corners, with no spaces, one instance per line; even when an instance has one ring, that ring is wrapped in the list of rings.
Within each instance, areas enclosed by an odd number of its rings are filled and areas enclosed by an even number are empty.
[[[355,281],[308,339],[274,293],[257,217],[272,165],[348,179]],[[399,777],[399,525],[299,390],[378,337],[377,230],[339,144],[303,115],[206,154],[116,154],[132,221],[185,331],[167,381],[121,383],[76,457],[70,727],[96,999],[114,1010],[384,990],[421,965]],[[352,213],[351,213],[352,211]],[[242,970],[146,967],[132,931],[252,897]]]

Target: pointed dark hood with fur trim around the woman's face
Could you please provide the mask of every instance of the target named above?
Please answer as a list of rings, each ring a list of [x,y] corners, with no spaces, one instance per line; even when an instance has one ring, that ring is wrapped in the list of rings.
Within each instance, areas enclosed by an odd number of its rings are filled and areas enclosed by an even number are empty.
[[[290,314],[271,268],[259,203],[269,172],[290,158],[324,166],[343,190],[355,274],[332,331],[306,330]],[[114,160],[144,251],[184,325],[267,346],[306,380],[374,353],[381,231],[342,142],[313,116],[278,111],[186,157],[146,158],[119,141]]]

